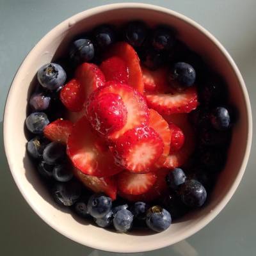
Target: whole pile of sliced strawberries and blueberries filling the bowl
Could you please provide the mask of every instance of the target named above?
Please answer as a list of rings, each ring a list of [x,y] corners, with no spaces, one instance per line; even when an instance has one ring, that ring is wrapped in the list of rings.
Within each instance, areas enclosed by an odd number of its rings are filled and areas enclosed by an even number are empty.
[[[225,166],[227,86],[177,38],[102,25],[38,70],[28,154],[54,200],[99,227],[166,230],[205,204]]]

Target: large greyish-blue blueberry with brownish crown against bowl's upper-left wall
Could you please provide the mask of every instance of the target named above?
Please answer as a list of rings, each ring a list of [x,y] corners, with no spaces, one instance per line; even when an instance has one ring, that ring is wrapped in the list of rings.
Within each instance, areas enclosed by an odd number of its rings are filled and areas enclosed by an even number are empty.
[[[38,82],[48,90],[56,90],[63,86],[67,79],[65,70],[56,63],[47,63],[37,72]]]

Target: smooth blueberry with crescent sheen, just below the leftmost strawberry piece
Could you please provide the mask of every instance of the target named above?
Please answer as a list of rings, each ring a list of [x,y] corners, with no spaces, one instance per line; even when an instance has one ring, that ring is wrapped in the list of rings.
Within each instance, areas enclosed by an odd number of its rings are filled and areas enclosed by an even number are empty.
[[[60,142],[53,141],[49,143],[43,152],[44,161],[47,164],[56,164],[60,163],[65,159],[66,156],[66,147]]]

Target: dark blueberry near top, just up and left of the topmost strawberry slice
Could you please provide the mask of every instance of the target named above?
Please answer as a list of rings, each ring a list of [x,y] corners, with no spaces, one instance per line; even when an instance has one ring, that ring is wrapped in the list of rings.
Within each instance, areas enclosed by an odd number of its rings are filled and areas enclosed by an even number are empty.
[[[100,49],[105,49],[109,45],[113,44],[116,40],[115,29],[111,25],[101,25],[94,29],[93,35],[95,43]]]

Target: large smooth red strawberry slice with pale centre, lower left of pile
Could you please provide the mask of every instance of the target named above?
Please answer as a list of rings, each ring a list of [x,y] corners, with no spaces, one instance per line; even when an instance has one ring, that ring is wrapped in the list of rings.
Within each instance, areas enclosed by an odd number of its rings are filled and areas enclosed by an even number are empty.
[[[67,154],[73,165],[84,174],[97,177],[108,177],[122,171],[115,165],[109,150],[102,153],[99,140],[85,116],[78,120],[67,141]]]

